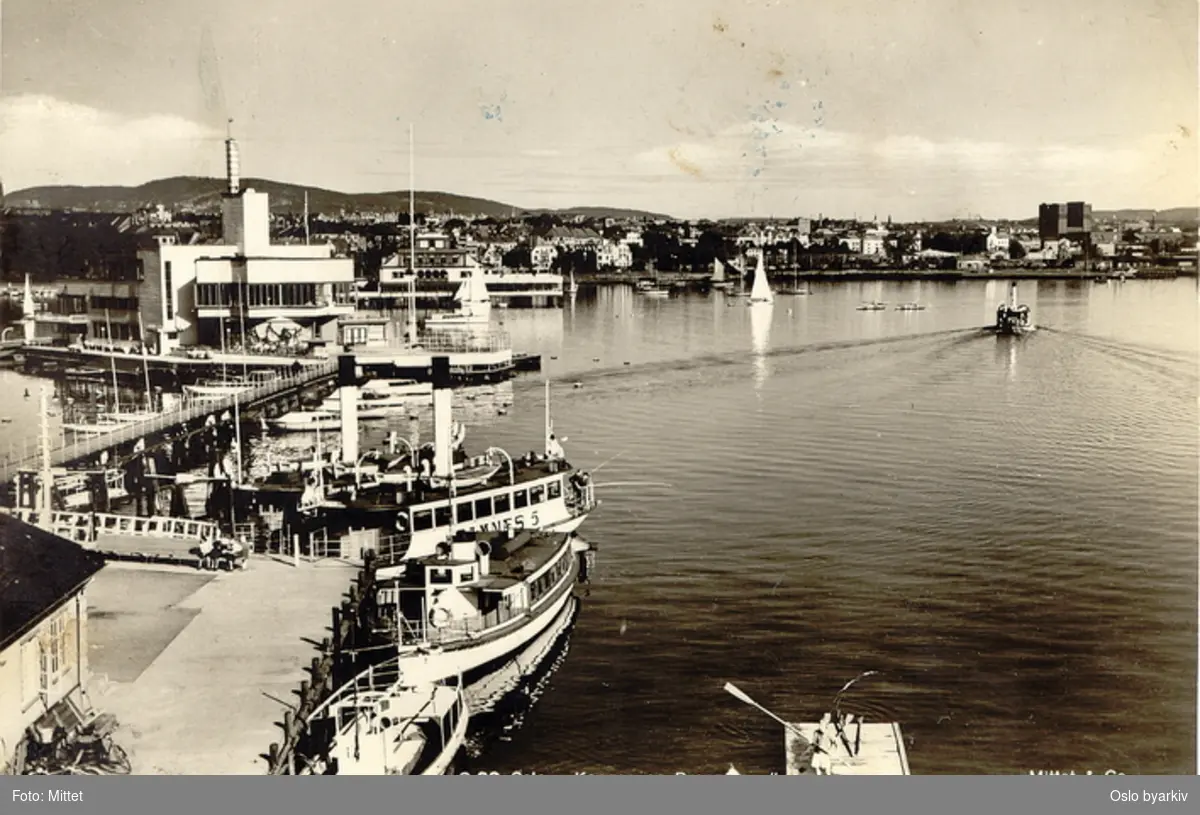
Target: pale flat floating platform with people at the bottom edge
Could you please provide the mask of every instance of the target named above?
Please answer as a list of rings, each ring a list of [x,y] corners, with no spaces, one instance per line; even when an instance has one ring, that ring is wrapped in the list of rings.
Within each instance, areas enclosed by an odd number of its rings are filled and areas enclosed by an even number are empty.
[[[812,742],[823,729],[822,744],[829,755],[830,775],[911,775],[900,725],[850,723],[838,731],[833,724],[796,723],[784,731],[788,775],[812,775]]]

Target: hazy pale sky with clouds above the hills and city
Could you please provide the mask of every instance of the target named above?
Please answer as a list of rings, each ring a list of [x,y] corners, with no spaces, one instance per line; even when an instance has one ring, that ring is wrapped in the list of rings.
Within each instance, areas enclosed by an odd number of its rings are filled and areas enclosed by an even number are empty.
[[[4,0],[0,178],[678,217],[1198,203],[1196,0]]]

